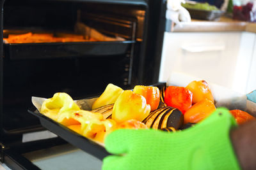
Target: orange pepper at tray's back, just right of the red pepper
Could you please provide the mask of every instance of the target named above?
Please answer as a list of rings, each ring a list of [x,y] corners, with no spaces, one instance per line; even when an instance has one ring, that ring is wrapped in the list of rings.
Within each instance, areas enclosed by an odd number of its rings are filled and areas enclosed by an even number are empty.
[[[202,100],[209,99],[212,102],[214,102],[212,92],[209,88],[209,85],[206,81],[191,81],[189,85],[186,87],[186,89],[189,89],[193,93],[192,103],[198,103]]]

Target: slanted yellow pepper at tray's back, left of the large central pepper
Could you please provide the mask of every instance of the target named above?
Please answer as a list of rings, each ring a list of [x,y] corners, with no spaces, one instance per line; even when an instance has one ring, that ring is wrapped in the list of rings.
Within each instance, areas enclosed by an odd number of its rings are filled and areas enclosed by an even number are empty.
[[[116,99],[124,90],[111,83],[108,84],[100,97],[92,104],[92,110],[108,104],[115,103]]]

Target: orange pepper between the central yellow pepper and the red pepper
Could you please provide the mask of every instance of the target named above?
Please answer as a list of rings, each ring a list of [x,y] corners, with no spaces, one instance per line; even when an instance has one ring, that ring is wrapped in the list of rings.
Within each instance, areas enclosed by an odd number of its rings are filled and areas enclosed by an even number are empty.
[[[133,92],[145,97],[147,104],[151,107],[151,111],[158,108],[160,101],[160,90],[158,87],[136,85]]]

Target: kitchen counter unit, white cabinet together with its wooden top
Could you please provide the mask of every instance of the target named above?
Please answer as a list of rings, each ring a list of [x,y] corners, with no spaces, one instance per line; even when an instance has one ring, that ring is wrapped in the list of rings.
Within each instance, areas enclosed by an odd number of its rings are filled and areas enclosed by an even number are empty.
[[[241,94],[256,89],[256,23],[222,17],[170,24],[164,32],[159,81],[179,72]]]

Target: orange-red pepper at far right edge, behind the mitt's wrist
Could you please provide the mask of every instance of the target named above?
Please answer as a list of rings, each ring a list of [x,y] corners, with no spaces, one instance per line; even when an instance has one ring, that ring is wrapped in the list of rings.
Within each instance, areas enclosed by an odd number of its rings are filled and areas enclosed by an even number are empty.
[[[230,110],[230,113],[233,115],[233,117],[236,119],[237,124],[239,125],[255,119],[255,117],[253,117],[249,113],[241,110]]]

